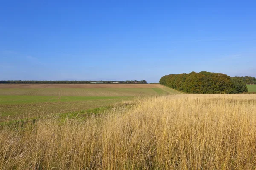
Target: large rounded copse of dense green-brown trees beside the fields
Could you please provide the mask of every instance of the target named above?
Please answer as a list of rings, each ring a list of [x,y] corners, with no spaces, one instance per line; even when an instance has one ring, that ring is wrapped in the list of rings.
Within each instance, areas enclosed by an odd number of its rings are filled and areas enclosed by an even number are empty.
[[[222,73],[202,71],[189,74],[170,74],[160,79],[160,84],[185,93],[218,94],[247,92],[246,84],[239,78]]]

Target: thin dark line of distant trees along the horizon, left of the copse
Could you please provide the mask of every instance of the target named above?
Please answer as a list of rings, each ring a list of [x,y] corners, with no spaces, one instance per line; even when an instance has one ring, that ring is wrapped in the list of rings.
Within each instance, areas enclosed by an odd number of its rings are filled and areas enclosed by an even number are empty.
[[[22,80],[8,80],[8,81],[0,81],[0,84],[89,84],[95,81],[22,81]],[[127,81],[101,81],[106,84],[111,83],[128,83],[128,84],[143,84],[147,83],[146,80],[127,80]]]

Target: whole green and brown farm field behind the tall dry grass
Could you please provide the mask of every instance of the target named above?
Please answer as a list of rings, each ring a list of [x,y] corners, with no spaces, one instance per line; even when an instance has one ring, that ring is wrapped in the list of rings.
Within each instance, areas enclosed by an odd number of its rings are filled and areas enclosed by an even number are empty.
[[[171,94],[181,93],[159,84],[0,85],[0,122],[27,114],[67,113]]]

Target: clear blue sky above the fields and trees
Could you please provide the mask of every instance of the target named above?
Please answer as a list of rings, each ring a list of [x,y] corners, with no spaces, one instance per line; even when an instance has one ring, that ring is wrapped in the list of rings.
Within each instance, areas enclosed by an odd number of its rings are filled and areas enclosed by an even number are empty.
[[[2,0],[1,80],[256,77],[256,1]]]

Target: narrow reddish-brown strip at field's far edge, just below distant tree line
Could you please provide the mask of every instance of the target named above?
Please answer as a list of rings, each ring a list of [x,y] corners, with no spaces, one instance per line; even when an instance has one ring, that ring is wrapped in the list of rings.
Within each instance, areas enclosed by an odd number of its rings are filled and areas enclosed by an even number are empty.
[[[0,84],[0,88],[162,88],[160,84]]]

